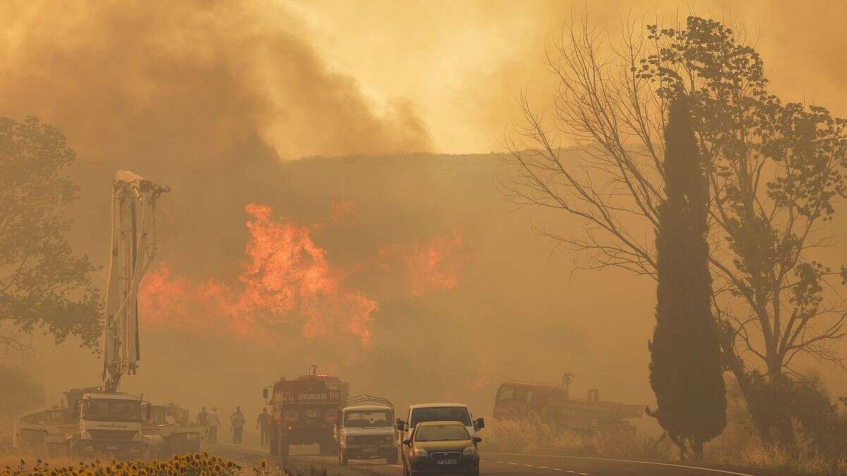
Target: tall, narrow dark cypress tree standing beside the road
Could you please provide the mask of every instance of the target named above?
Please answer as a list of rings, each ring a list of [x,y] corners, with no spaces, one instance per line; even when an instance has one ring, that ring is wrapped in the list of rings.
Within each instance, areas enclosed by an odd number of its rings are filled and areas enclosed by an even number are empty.
[[[665,191],[656,230],[656,328],[650,348],[655,417],[695,459],[727,423],[717,321],[711,314],[706,227],[709,189],[697,152],[688,97],[670,105],[665,127]]]

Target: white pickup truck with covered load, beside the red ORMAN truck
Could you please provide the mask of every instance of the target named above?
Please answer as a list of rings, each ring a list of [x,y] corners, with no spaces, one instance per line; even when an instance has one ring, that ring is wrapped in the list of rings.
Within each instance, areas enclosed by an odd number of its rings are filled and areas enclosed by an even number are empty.
[[[352,396],[342,401],[335,420],[338,463],[347,460],[385,458],[397,463],[394,405],[379,396]]]

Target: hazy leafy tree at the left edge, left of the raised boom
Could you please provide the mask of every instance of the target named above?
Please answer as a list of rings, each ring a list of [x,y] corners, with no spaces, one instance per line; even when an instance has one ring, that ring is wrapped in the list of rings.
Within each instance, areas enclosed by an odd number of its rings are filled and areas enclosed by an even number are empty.
[[[75,256],[66,206],[78,188],[65,175],[75,153],[53,125],[0,118],[0,346],[43,327],[61,342],[97,348],[102,300],[88,257]]]

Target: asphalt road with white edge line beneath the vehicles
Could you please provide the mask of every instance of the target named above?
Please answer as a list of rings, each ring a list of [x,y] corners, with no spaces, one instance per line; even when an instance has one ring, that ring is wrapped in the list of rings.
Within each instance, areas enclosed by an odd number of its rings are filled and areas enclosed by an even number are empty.
[[[225,446],[224,446],[225,447]],[[236,451],[244,457],[267,457],[268,451],[255,446],[233,446],[227,450]],[[292,447],[291,457],[302,462],[313,462],[325,468],[338,468],[335,457],[322,457],[309,446]],[[621,459],[562,457],[552,455],[523,455],[512,453],[484,452],[482,474],[492,476],[512,476],[518,474],[579,474],[581,476],[775,476],[784,473],[738,468],[700,468],[683,464],[659,462],[638,462]],[[347,470],[360,469],[367,473],[401,476],[401,465],[385,464],[385,460],[350,460]]]

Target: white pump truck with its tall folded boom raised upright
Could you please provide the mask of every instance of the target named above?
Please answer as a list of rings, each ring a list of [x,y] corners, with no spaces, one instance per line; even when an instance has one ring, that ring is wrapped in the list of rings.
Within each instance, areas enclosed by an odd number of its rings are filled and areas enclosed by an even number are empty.
[[[138,287],[156,255],[156,201],[168,191],[132,172],[115,174],[103,385],[70,390],[68,407],[20,418],[16,446],[43,452],[64,448],[65,454],[80,457],[170,457],[200,450],[201,429],[189,423],[187,408],[152,405],[118,391],[124,375],[136,373],[141,358]]]

